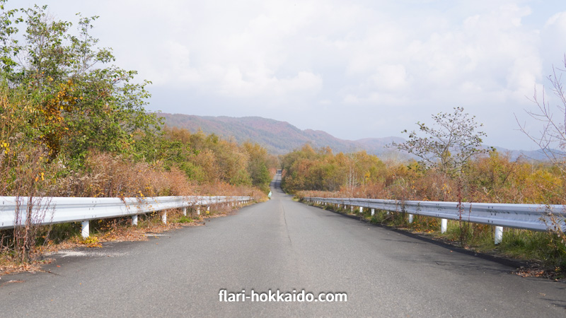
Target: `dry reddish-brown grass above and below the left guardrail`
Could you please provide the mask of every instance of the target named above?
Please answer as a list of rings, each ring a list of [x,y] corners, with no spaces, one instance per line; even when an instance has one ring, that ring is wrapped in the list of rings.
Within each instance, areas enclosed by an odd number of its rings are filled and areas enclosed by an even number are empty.
[[[37,155],[30,158],[38,158]],[[2,172],[9,172],[9,169],[1,169]],[[38,169],[26,169],[28,172],[25,176],[28,180],[35,180],[34,186],[40,190],[40,196],[75,196],[75,197],[127,197],[127,196],[251,196],[255,201],[264,201],[267,199],[265,194],[253,187],[233,186],[225,182],[214,182],[213,184],[197,185],[190,182],[184,172],[177,167],[165,169],[160,163],[149,164],[145,162],[134,162],[131,158],[125,158],[120,155],[110,155],[109,153],[100,153],[91,151],[88,153],[84,165],[78,171],[69,171],[68,167],[62,164],[52,163],[45,166],[45,170],[41,170],[38,175]],[[1,175],[1,176],[4,176]],[[45,180],[43,176],[45,175]],[[38,177],[39,176],[39,177]],[[4,179],[7,177],[4,176]],[[37,180],[40,180],[37,182]],[[35,189],[35,188],[34,188]],[[7,195],[5,193],[4,195]],[[198,221],[205,217],[216,217],[231,213],[231,206],[213,206],[212,211],[206,213],[203,211],[202,216],[193,218],[196,222],[189,222],[187,219],[183,223],[175,223],[178,218],[179,211],[169,211],[168,224],[163,225],[159,218],[146,218],[148,220],[144,226],[134,228],[129,225],[129,218],[117,218],[112,220],[103,220],[96,226],[91,225],[91,229],[97,230],[98,234],[88,240],[82,240],[79,237],[69,237],[69,234],[58,234],[54,239],[46,234],[45,237],[35,237],[35,242],[42,242],[42,247],[30,247],[30,264],[35,264],[41,254],[52,252],[58,249],[71,247],[96,247],[102,242],[122,241],[122,240],[144,240],[147,232],[162,232],[164,230],[172,230],[180,226],[194,226]],[[92,222],[91,224],[95,224]],[[1,233],[0,233],[1,234]],[[11,235],[8,235],[8,238]],[[27,270],[25,265],[16,266],[15,259],[8,249],[11,247],[8,239],[0,237],[0,271],[19,271]],[[53,244],[53,241],[60,244]],[[6,242],[6,246],[4,246]],[[44,243],[45,242],[45,243]],[[50,242],[52,244],[50,244]],[[33,245],[33,242],[30,243]]]

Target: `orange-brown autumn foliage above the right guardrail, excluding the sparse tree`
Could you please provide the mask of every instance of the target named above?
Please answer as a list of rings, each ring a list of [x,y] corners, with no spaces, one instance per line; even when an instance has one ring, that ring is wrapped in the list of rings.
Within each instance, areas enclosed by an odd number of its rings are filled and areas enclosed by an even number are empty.
[[[565,180],[550,163],[512,160],[497,151],[466,161],[451,174],[410,160],[383,161],[365,151],[334,154],[305,145],[282,157],[282,185],[288,192],[369,199],[565,204]]]

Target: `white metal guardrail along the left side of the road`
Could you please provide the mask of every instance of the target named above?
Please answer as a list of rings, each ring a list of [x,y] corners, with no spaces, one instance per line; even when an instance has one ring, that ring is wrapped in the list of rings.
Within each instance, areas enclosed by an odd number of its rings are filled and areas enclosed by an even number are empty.
[[[0,196],[0,230],[14,228],[16,225],[25,223],[28,201],[29,198],[25,196]],[[200,206],[208,208],[213,204],[241,204],[248,203],[248,201],[251,201],[250,196],[37,197],[32,201],[31,220],[35,225],[81,222],[81,234],[83,237],[88,237],[89,220],[132,216],[132,224],[137,225],[139,214],[183,208],[183,214],[186,216],[189,206],[197,206],[197,213],[200,214]],[[167,223],[166,212],[163,212],[162,220],[163,223]]]

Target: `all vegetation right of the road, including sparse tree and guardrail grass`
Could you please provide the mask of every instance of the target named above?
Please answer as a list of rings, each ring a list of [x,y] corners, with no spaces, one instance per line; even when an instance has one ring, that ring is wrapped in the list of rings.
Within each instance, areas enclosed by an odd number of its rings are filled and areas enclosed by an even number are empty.
[[[432,119],[433,126],[418,123],[418,131],[407,132],[408,141],[391,144],[416,160],[381,160],[364,151],[334,154],[330,148],[306,145],[282,156],[282,187],[299,199],[566,204],[565,178],[556,161],[512,160],[507,154],[483,148],[485,134],[478,131],[481,125],[461,107]],[[339,210],[352,213],[349,208]],[[359,214],[357,210],[353,213]],[[494,245],[495,230],[489,225],[449,221],[448,231],[441,234],[440,220],[435,218],[415,216],[408,223],[405,213],[381,211],[372,217],[370,211],[364,211],[361,216],[373,223],[427,232],[467,249],[530,260],[558,276],[564,276],[566,270],[566,237],[559,228],[552,232],[506,228],[503,242]],[[549,221],[555,225],[563,222],[555,217]]]

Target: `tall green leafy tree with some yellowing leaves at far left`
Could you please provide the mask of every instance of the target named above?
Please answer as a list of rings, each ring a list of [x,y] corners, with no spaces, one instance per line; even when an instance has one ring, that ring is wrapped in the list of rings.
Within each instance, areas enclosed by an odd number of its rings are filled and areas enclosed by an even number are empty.
[[[80,160],[89,149],[132,154],[134,134],[156,136],[161,126],[144,109],[149,82],[133,83],[135,71],[112,65],[110,49],[96,49],[98,39],[89,34],[96,18],[81,17],[76,35],[71,23],[52,19],[47,6],[0,18],[2,77],[30,99],[30,138],[47,146],[50,158]],[[26,26],[21,42],[11,40],[17,22]]]

